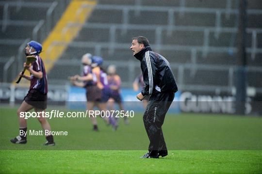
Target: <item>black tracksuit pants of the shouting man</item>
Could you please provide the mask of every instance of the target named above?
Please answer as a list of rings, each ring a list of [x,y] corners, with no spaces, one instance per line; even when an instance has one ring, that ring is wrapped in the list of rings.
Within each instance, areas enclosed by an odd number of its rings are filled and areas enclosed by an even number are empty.
[[[155,92],[150,96],[147,109],[143,116],[143,121],[150,141],[148,151],[151,152],[152,156],[156,155],[158,151],[166,151],[167,153],[162,125],[164,123],[165,114],[174,97],[174,92]]]

